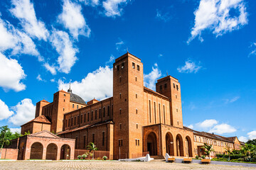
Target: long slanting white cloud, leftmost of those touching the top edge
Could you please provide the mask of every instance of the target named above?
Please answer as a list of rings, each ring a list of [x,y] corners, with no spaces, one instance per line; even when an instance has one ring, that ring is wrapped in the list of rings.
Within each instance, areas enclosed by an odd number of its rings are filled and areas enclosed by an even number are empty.
[[[36,18],[36,12],[33,4],[30,0],[12,0],[11,4],[14,8],[11,8],[11,13],[21,21],[23,29],[38,40],[45,40],[48,38],[48,30],[42,21],[38,21]]]

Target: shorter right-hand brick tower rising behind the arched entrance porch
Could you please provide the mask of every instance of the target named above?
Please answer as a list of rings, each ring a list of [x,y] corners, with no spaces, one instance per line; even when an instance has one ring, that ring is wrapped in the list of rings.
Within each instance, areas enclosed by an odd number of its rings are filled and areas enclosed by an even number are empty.
[[[157,80],[156,92],[171,99],[171,125],[183,128],[182,108],[181,108],[181,84],[178,79],[167,76]]]

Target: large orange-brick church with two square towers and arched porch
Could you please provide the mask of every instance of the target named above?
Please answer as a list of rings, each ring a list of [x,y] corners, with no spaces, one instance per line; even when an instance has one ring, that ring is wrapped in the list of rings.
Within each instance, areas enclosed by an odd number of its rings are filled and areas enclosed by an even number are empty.
[[[222,137],[183,126],[181,85],[167,76],[157,80],[156,91],[144,86],[142,61],[127,52],[113,64],[113,96],[102,101],[82,100],[71,89],[58,91],[53,102],[39,101],[36,118],[21,126],[21,132],[57,132],[75,140],[75,149],[94,142],[110,159],[142,157],[195,157],[203,143],[216,153],[225,147],[239,149],[237,137]]]

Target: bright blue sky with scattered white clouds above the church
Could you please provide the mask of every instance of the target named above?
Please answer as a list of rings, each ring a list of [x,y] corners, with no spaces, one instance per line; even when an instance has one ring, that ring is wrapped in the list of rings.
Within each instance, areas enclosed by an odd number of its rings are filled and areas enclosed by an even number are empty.
[[[3,0],[0,125],[19,128],[69,82],[85,101],[112,96],[112,63],[128,49],[145,86],[166,72],[181,82],[184,125],[256,138],[255,9],[252,0]]]

